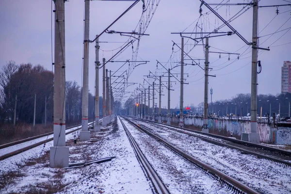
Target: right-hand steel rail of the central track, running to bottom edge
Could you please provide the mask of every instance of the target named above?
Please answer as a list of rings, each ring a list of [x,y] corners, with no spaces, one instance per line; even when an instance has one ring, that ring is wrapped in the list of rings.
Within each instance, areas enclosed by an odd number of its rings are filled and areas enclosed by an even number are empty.
[[[146,134],[150,135],[151,137],[157,139],[158,141],[160,141],[162,144],[164,144],[165,146],[169,147],[170,149],[174,150],[176,153],[178,153],[180,156],[182,156],[183,158],[187,159],[188,161],[194,163],[195,165],[200,166],[201,168],[203,168],[206,171],[209,171],[211,174],[213,174],[214,176],[217,176],[218,178],[221,178],[221,180],[224,180],[226,183],[230,184],[231,186],[235,187],[235,189],[238,189],[241,192],[247,193],[247,194],[259,194],[258,192],[256,192],[255,190],[253,190],[252,188],[242,184],[241,182],[239,182],[238,180],[229,177],[228,175],[220,172],[219,170],[211,167],[210,165],[201,162],[197,159],[195,159],[193,156],[181,151],[180,149],[178,149],[177,147],[171,145],[170,143],[164,141],[161,137],[149,132],[148,130],[142,128],[141,126],[133,123],[132,121],[130,121],[127,118],[126,119],[131,125],[135,126],[136,128],[144,131]]]

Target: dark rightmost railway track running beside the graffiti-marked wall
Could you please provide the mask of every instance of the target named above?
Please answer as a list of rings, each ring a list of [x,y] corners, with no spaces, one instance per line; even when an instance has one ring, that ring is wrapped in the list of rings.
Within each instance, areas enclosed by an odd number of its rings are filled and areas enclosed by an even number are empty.
[[[179,128],[176,126],[167,125],[163,123],[157,123],[157,122],[148,121],[144,119],[138,119],[138,118],[133,118],[133,119],[137,119],[137,120],[147,122],[147,123],[154,123],[160,126],[165,126],[168,129],[175,130],[180,133],[188,134],[190,136],[195,136],[197,138],[202,139],[203,141],[206,141],[212,144],[237,149],[246,154],[256,155],[260,158],[265,158],[268,160],[284,163],[286,165],[291,166],[291,152],[290,151],[277,149],[270,146],[264,146],[260,144],[253,144],[250,142],[232,139],[232,138],[221,136],[221,135],[204,133],[204,132],[193,130],[193,129]]]

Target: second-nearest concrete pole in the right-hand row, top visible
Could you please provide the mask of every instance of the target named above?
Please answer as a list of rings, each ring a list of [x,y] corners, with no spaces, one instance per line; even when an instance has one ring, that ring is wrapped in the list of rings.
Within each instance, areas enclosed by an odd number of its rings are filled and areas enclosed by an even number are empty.
[[[209,70],[209,43],[208,38],[206,38],[205,43],[205,83],[204,83],[204,120],[202,132],[209,133],[208,129],[208,70]]]

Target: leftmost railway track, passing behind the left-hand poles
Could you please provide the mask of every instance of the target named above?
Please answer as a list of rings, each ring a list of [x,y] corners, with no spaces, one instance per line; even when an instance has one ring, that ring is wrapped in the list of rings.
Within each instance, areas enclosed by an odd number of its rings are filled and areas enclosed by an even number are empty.
[[[99,121],[101,121],[102,119],[100,119]],[[91,122],[88,126],[92,125],[93,122]],[[73,127],[69,127],[69,128],[66,128],[66,130],[68,130],[65,134],[70,134],[70,133],[73,133],[79,129],[81,129],[81,127],[79,127],[81,125],[77,125],[77,126],[73,126]],[[77,129],[73,129],[73,128],[77,128]],[[72,129],[72,130],[70,130]],[[42,135],[37,135],[37,136],[34,136],[34,137],[30,137],[30,138],[27,138],[27,139],[23,139],[23,140],[19,140],[19,141],[16,141],[16,142],[11,142],[11,143],[8,143],[8,144],[4,144],[4,145],[1,145],[0,146],[0,153],[2,152],[2,154],[0,155],[0,161],[2,160],[5,160],[7,158],[10,158],[12,156],[15,156],[17,154],[20,154],[24,151],[27,151],[29,149],[32,149],[33,147],[36,147],[36,146],[40,146],[40,145],[43,145],[43,144],[46,144],[50,141],[53,140],[53,137],[50,137],[50,138],[47,138],[45,140],[40,140],[40,141],[37,141],[37,139],[42,139],[43,137],[49,137],[49,135],[52,135],[53,132],[49,132],[49,133],[45,133],[45,134],[42,134]],[[34,143],[35,140],[36,142]],[[32,144],[28,145],[30,141],[33,141]],[[27,143],[27,144],[25,144]],[[21,145],[23,144],[23,145]],[[12,146],[17,146],[17,148],[13,149],[12,151],[7,151],[7,153],[4,153],[9,147],[12,147]]]

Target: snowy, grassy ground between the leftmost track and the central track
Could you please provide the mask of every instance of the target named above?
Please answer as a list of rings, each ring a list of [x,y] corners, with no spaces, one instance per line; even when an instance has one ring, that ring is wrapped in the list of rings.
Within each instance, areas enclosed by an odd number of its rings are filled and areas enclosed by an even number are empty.
[[[48,159],[44,163],[22,168],[16,165],[14,170],[24,175],[5,185],[0,193],[47,193],[46,187],[54,187],[60,194],[153,194],[152,184],[136,159],[120,121],[113,122],[113,126],[106,129],[91,132],[91,140],[97,142],[78,141],[74,145],[73,136],[67,138],[69,161],[74,163],[116,156],[112,161],[66,170],[49,168]],[[34,149],[27,151],[27,154],[39,154],[39,149]],[[0,166],[2,169],[1,163]],[[7,168],[11,169],[11,166],[7,165]]]

